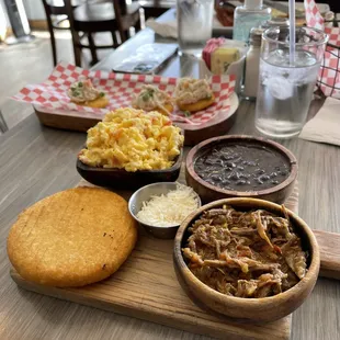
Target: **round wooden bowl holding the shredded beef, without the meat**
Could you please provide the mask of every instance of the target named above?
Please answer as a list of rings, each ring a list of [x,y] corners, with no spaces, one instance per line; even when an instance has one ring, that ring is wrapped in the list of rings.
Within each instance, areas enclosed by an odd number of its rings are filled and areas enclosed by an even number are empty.
[[[273,321],[293,313],[298,308],[313,291],[319,273],[319,247],[313,231],[297,215],[287,211],[296,234],[302,239],[303,249],[309,252],[308,271],[292,288],[274,296],[262,298],[242,298],[222,294],[201,282],[188,268],[182,256],[182,248],[189,237],[190,227],[201,214],[211,208],[222,207],[224,204],[240,211],[253,208],[267,209],[283,216],[281,206],[268,201],[256,199],[226,199],[202,206],[191,214],[180,226],[174,238],[173,262],[178,280],[189,297],[199,306],[209,310],[252,322]]]

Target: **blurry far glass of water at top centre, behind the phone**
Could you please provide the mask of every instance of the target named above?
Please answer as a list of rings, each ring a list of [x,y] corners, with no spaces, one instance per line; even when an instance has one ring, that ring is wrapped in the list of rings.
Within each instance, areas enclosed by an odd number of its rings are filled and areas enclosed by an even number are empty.
[[[214,0],[177,0],[180,54],[201,56],[213,32]]]

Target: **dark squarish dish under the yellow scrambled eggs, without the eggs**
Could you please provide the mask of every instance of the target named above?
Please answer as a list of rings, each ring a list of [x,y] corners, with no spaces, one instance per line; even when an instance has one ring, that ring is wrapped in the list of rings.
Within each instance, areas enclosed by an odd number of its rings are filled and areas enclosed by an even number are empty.
[[[94,168],[84,165],[79,159],[77,159],[77,170],[84,180],[95,185],[117,189],[139,189],[156,182],[175,181],[180,175],[182,160],[183,149],[181,149],[181,154],[175,158],[174,165],[163,170],[129,172],[124,169]]]

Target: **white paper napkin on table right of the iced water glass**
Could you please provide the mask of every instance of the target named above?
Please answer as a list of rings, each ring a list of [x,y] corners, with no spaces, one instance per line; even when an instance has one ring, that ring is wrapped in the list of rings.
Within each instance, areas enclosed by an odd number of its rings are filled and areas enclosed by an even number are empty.
[[[298,137],[340,146],[340,100],[327,98],[324,106],[304,126]]]

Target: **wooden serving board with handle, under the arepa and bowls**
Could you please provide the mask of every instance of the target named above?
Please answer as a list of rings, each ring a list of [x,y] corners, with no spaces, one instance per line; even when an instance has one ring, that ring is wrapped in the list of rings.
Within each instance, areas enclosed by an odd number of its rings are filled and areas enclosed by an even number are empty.
[[[184,181],[184,167],[179,181]],[[91,185],[84,181],[80,185]],[[126,200],[128,191],[117,192]],[[297,185],[286,206],[297,212]],[[322,270],[325,274],[338,275],[340,259],[340,236],[333,238],[337,245],[328,251],[329,235],[318,231],[320,239]],[[331,235],[332,237],[333,235]],[[122,268],[107,280],[80,288],[56,288],[23,280],[14,269],[11,276],[19,286],[36,293],[71,301],[91,307],[145,319],[181,330],[227,339],[290,339],[292,315],[270,324],[243,324],[206,311],[197,307],[181,288],[172,264],[173,240],[152,238],[140,229],[140,237],[131,257]],[[335,270],[338,268],[338,271]],[[338,276],[338,279],[340,279]]]

